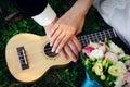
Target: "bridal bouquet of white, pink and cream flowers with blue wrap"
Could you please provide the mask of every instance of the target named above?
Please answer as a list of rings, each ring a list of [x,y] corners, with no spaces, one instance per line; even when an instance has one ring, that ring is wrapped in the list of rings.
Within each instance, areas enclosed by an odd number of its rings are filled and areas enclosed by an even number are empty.
[[[130,55],[113,41],[90,42],[81,59],[87,70],[82,87],[130,87]]]

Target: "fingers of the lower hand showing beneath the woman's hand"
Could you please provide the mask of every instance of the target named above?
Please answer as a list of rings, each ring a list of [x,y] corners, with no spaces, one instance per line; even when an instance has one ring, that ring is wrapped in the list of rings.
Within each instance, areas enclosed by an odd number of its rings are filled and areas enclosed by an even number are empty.
[[[73,38],[65,45],[65,47],[60,51],[63,59],[72,59],[73,62],[77,62],[79,58],[79,52],[81,51],[81,44],[73,36]]]

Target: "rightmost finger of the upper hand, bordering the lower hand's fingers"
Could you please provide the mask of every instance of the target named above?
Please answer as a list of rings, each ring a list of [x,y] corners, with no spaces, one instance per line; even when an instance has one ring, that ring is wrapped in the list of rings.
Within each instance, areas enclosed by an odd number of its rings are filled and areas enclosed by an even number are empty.
[[[62,38],[60,45],[57,46],[56,51],[60,52],[69,39],[70,39],[70,35],[65,35],[64,38]]]

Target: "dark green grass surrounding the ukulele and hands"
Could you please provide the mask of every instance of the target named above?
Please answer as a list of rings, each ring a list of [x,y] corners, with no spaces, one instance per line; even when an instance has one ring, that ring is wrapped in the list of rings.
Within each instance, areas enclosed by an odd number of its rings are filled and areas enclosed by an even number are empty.
[[[76,0],[49,0],[58,16],[62,16]],[[30,17],[23,17],[9,0],[0,0],[0,87],[80,87],[83,83],[84,67],[81,60],[70,63],[62,69],[52,69],[41,79],[32,84],[16,80],[9,72],[5,62],[5,46],[9,39],[20,33],[46,35],[43,27]],[[6,20],[6,16],[17,13]],[[90,34],[109,28],[98,11],[92,7],[86,17],[83,32]],[[120,41],[119,39],[117,41]]]

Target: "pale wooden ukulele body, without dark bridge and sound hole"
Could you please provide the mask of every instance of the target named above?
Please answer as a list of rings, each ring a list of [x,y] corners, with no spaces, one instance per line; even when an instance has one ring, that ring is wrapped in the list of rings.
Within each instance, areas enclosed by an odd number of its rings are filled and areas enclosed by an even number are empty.
[[[50,58],[44,53],[44,47],[49,44],[47,36],[34,34],[18,34],[10,39],[6,45],[6,63],[11,74],[21,82],[31,83],[39,79],[50,67],[65,65],[70,60],[64,60],[58,54]],[[22,70],[16,48],[26,50],[28,69]]]

